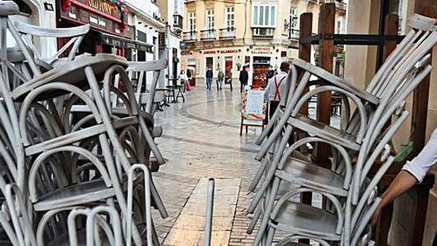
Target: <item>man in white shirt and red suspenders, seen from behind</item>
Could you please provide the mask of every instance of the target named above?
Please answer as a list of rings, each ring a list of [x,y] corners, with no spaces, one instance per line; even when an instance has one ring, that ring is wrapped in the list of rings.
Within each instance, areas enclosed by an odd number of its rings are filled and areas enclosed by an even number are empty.
[[[281,72],[275,75],[269,80],[267,84],[266,91],[264,92],[264,99],[269,101],[269,119],[275,113],[276,108],[281,101],[281,96],[284,91],[285,83],[287,81],[287,75],[290,71],[290,64],[288,62],[281,63]]]

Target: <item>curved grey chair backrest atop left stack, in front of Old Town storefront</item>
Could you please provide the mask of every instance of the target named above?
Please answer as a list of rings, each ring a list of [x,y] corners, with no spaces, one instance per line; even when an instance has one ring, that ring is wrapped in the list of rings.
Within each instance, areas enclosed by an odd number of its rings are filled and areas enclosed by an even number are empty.
[[[71,50],[69,52],[68,61],[72,61],[77,53],[80,43],[83,40],[83,37],[90,29],[89,24],[69,28],[43,28],[20,21],[15,21],[14,26],[17,31],[22,34],[22,38],[26,46],[33,52],[35,58],[43,60],[49,64],[52,64],[59,59],[59,56],[70,47]],[[33,43],[33,37],[71,39],[51,57],[42,57]]]

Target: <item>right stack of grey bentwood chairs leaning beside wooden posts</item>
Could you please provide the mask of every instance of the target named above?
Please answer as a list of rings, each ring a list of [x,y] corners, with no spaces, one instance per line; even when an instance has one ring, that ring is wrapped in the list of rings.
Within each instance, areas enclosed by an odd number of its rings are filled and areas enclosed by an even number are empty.
[[[261,220],[254,246],[272,245],[277,230],[287,235],[279,245],[293,245],[289,243],[297,239],[320,245],[369,244],[369,220],[380,203],[377,184],[394,161],[388,143],[409,114],[404,100],[432,70],[429,52],[437,43],[436,23],[413,14],[408,21],[411,31],[365,90],[303,60],[292,62],[288,94],[256,141],[262,144],[256,157],[262,163],[250,186],[256,194],[248,208],[254,213],[248,233]],[[304,92],[310,77],[324,84]],[[343,97],[345,117],[339,128],[299,113],[312,96],[326,91]],[[354,112],[350,102],[356,105]],[[306,137],[288,146],[296,129]],[[316,143],[329,148],[329,168],[302,153]],[[382,164],[373,166],[375,161]],[[377,171],[370,176],[372,166]],[[318,193],[325,202],[316,207],[293,199],[305,192]]]

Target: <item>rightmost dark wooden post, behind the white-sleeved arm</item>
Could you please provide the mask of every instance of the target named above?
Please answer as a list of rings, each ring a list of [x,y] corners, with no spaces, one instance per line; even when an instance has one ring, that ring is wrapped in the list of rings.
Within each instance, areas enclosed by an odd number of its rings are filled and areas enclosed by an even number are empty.
[[[414,12],[436,18],[437,0],[420,0],[415,3]],[[411,136],[413,151],[408,160],[416,157],[425,146],[425,135],[428,119],[428,99],[430,94],[430,75],[414,90],[413,110],[411,114]],[[418,204],[414,222],[413,242],[422,245],[423,233],[428,208],[429,190],[418,188]]]

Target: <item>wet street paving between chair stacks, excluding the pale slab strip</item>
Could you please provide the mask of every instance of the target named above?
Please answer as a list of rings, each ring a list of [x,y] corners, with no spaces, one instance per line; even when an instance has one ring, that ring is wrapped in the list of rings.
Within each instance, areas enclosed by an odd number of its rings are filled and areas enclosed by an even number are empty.
[[[240,180],[233,220],[224,229],[227,231],[225,243],[215,245],[250,244],[254,234],[246,234],[249,218],[245,210],[253,196],[248,186],[258,166],[254,160],[258,147],[252,144],[256,138],[254,130],[239,136],[239,91],[231,92],[228,88],[206,91],[205,87],[198,85],[187,92],[185,103],[171,104],[164,111],[157,112],[155,118],[156,124],[164,129],[163,136],[157,140],[159,149],[168,159],[153,174],[169,213],[169,218],[161,219],[153,211],[160,242],[168,244],[171,240],[166,238],[172,237],[170,231],[180,228],[175,223],[186,210],[184,207],[191,204],[187,201],[199,180],[214,177]],[[185,245],[190,243],[187,241]]]

